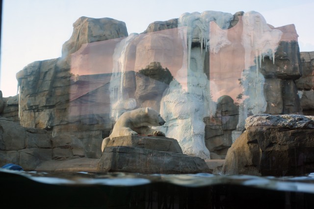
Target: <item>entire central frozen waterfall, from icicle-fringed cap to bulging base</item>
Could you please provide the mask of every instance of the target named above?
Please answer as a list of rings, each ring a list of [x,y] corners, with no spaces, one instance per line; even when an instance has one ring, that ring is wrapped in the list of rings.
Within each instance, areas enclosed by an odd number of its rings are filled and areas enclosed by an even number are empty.
[[[183,65],[178,72],[183,78],[178,76],[164,93],[160,113],[167,121],[163,131],[166,136],[178,139],[184,154],[210,158],[204,141],[203,118],[214,114],[216,105],[210,98],[209,80],[204,73],[203,46],[207,51],[210,21],[227,29],[232,18],[228,13],[206,11],[184,13],[179,19],[179,27],[186,28],[187,54],[183,59],[187,59],[187,66]],[[201,47],[192,48],[192,42],[199,42]],[[186,83],[182,82],[184,78]]]

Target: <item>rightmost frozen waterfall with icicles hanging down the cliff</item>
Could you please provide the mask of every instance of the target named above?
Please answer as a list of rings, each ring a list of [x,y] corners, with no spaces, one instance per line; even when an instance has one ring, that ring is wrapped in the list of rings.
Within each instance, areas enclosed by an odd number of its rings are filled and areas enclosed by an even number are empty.
[[[237,130],[244,128],[248,114],[265,112],[264,77],[259,72],[262,60],[269,56],[275,62],[282,31],[271,29],[263,16],[255,11],[244,13],[242,45],[244,47],[244,71],[242,72],[243,103],[239,108]]]

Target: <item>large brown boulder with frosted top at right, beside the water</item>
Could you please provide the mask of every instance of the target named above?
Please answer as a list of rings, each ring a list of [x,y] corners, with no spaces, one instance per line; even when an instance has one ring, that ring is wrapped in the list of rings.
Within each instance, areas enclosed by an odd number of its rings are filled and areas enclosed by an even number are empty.
[[[304,175],[314,171],[314,117],[261,114],[246,119],[228,150],[224,174]]]

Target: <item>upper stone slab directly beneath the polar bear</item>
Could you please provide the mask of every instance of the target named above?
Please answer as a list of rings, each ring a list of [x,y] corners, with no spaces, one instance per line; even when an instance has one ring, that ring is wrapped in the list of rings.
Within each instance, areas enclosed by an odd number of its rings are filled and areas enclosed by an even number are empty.
[[[126,146],[151,149],[157,151],[182,153],[182,149],[176,139],[163,136],[120,136],[112,138],[107,147]]]

